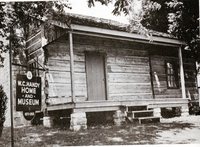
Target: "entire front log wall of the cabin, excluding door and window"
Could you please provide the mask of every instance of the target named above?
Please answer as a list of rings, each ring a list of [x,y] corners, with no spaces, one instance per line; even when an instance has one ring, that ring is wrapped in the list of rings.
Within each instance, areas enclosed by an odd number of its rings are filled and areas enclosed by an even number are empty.
[[[75,101],[87,100],[85,51],[105,54],[108,100],[181,98],[181,88],[168,89],[165,63],[179,64],[177,51],[128,41],[73,35]],[[152,49],[154,49],[152,51]],[[70,56],[67,36],[49,44],[49,97],[53,103],[71,101]],[[151,65],[151,67],[150,67]],[[151,69],[150,69],[151,68]],[[196,95],[194,62],[184,60],[187,94]],[[152,72],[152,83],[150,71]],[[153,84],[153,87],[152,85]],[[189,91],[189,92],[188,92]],[[59,100],[58,100],[59,99]]]

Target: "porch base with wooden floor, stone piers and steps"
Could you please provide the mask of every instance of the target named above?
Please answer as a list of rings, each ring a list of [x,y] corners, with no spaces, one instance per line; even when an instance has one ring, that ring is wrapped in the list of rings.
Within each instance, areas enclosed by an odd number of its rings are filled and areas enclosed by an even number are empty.
[[[139,109],[138,109],[139,108]],[[141,109],[142,108],[142,109]],[[101,112],[109,113],[115,125],[128,123],[155,123],[160,122],[162,108],[180,108],[181,115],[188,115],[188,99],[169,98],[169,99],[138,99],[123,101],[84,101],[76,103],[66,103],[50,105],[47,107],[48,112],[68,111],[70,119],[70,129],[77,131],[81,128],[86,129],[88,126],[88,114],[98,114]],[[52,113],[53,114],[53,113]],[[105,114],[106,115],[106,114]],[[63,118],[63,117],[62,117]],[[54,116],[49,115],[51,122],[44,122],[46,127],[52,127]],[[106,118],[99,118],[106,119]],[[106,121],[106,120],[105,120]]]

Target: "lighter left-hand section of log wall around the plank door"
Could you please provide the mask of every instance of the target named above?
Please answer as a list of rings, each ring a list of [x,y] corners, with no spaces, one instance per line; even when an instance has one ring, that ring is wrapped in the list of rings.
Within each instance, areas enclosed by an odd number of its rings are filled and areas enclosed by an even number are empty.
[[[73,35],[75,101],[88,100],[85,52],[105,55],[107,100],[151,99],[146,45],[99,37]],[[71,100],[69,40],[63,36],[46,47],[49,97],[52,104]]]

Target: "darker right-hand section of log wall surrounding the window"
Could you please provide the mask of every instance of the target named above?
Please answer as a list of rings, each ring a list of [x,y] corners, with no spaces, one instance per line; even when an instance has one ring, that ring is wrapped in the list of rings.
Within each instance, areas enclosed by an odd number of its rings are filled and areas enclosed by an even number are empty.
[[[156,99],[182,98],[179,74],[178,49],[169,49],[167,47],[154,47],[154,49],[152,49],[150,52],[150,64],[152,71],[154,97]],[[172,61],[177,65],[177,88],[169,88],[167,86],[166,63],[168,61]],[[197,97],[195,61],[193,59],[183,57],[183,67],[185,73],[186,97],[195,98]]]

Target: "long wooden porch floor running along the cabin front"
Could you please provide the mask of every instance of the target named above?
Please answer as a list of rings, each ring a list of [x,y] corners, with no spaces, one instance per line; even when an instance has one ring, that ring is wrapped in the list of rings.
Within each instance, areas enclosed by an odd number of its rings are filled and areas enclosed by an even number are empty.
[[[182,107],[188,105],[188,99],[168,98],[168,99],[137,99],[137,100],[106,100],[106,101],[84,101],[75,103],[62,103],[49,105],[48,111],[73,109],[73,112],[102,112],[116,111],[121,107],[147,105],[148,109],[164,107]]]

